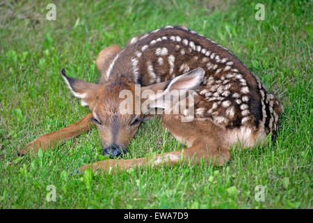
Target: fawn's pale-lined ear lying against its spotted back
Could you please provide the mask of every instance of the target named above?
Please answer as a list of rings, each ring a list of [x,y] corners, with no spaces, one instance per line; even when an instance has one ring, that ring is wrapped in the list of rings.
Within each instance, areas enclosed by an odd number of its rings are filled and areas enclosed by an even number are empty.
[[[197,90],[204,78],[204,70],[197,68],[179,75],[174,79],[159,84],[145,87],[143,97],[147,95],[149,106],[147,109],[170,109],[179,100],[188,96],[193,90]],[[162,90],[161,92],[159,92]]]

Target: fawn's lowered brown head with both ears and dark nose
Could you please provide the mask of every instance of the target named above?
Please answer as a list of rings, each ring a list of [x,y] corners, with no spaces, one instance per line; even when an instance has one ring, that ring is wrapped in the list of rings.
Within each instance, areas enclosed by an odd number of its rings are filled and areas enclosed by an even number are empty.
[[[122,76],[104,84],[93,84],[67,77],[64,68],[61,69],[61,75],[73,95],[81,98],[81,105],[88,105],[92,112],[93,118],[90,121],[98,128],[104,155],[117,157],[126,153],[127,145],[134,137],[145,114],[152,109],[170,109],[159,101],[172,91],[198,89],[204,78],[204,70],[202,68],[191,70],[168,82],[141,87],[140,91],[136,91],[135,84],[125,81]],[[163,93],[157,93],[159,90]],[[125,95],[122,92],[129,93],[127,102],[130,102],[130,105],[123,106]],[[175,105],[176,102],[170,105]],[[141,109],[143,103],[147,105],[145,109]],[[136,111],[138,107],[140,109]]]

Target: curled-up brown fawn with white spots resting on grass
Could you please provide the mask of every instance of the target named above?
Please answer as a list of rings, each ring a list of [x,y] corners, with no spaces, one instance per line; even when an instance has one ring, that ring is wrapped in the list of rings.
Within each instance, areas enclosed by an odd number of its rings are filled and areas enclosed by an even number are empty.
[[[98,84],[67,77],[61,70],[70,91],[81,99],[81,105],[89,107],[90,114],[31,141],[21,154],[38,151],[40,146],[45,150],[77,137],[93,123],[102,139],[103,153],[120,156],[127,151],[141,121],[151,116],[147,111],[155,109],[163,109],[163,126],[188,148],[154,157],[103,160],[83,166],[81,171],[88,167],[109,171],[181,161],[195,164],[201,159],[207,164],[223,165],[230,159],[234,145],[252,148],[264,143],[266,136],[278,128],[280,100],[268,93],[229,50],[184,26],[166,26],[136,36],[124,49],[111,45],[99,53],[96,66],[101,72]],[[147,95],[147,109],[136,113],[134,105],[129,106],[131,112],[121,114],[124,99],[120,92],[130,91],[136,101],[136,84],[141,86],[139,94],[151,93]],[[163,93],[158,94],[160,90]],[[186,107],[194,109],[191,121],[182,121],[188,116],[187,109],[178,109],[178,114],[165,112],[180,101],[170,99],[170,106],[157,102],[175,90],[188,91],[184,99],[193,98],[193,105],[189,105],[190,100],[186,103]]]

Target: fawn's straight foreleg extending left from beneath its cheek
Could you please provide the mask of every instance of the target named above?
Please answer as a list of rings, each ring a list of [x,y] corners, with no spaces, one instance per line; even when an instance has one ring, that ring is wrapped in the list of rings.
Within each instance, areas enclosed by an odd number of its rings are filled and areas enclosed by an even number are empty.
[[[22,148],[19,153],[23,155],[31,151],[32,149],[34,153],[37,153],[40,146],[43,150],[46,150],[47,148],[49,148],[49,146],[53,148],[60,141],[61,143],[63,143],[68,139],[73,139],[74,137],[79,136],[79,134],[83,132],[88,132],[88,130],[90,129],[89,119],[92,117],[93,115],[90,113],[83,117],[77,123],[73,123],[72,125],[69,125],[61,130],[44,134],[41,137],[38,137],[37,139],[31,141],[29,144],[26,144],[26,146],[24,146],[24,148]]]

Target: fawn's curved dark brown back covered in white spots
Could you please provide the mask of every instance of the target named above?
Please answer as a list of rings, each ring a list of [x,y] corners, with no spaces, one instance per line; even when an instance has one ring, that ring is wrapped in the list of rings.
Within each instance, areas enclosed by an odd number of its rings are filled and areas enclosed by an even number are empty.
[[[166,26],[129,40],[100,83],[122,78],[147,86],[195,68],[205,70],[196,119],[227,129],[264,128],[266,134],[277,129],[280,101],[229,50],[183,26]]]

